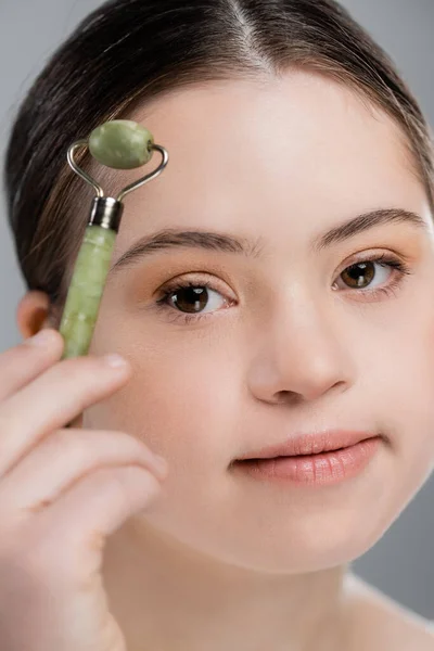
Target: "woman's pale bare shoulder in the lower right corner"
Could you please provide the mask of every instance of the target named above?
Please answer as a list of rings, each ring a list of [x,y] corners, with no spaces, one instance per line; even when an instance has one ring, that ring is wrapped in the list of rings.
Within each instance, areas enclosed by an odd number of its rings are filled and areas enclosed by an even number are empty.
[[[358,576],[347,577],[352,651],[434,651],[434,621],[406,609]]]

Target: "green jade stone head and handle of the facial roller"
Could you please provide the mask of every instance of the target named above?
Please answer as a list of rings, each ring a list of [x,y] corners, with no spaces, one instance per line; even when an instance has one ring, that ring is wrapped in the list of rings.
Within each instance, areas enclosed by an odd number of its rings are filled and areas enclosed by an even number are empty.
[[[89,151],[102,165],[132,169],[148,163],[153,151],[152,133],[132,120],[105,123],[89,137]],[[87,355],[97,323],[116,231],[88,224],[78,252],[62,315],[62,359]]]

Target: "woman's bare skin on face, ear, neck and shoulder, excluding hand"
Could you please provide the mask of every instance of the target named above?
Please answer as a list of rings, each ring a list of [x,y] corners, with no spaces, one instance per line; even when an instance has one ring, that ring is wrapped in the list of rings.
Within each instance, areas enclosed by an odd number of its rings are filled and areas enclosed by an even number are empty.
[[[105,546],[128,651],[432,650],[423,618],[346,573],[434,461],[433,215],[400,129],[306,72],[183,88],[128,117],[170,161],[126,199],[113,263],[167,228],[261,241],[256,256],[154,250],[107,279],[91,354],[116,350],[132,374],[74,426],[128,432],[168,461],[157,499]],[[104,187],[132,178],[111,171]],[[383,225],[312,253],[324,230],[391,207],[425,229]],[[367,288],[348,285],[344,270],[382,254],[411,273],[374,264]],[[188,322],[186,293],[156,303],[206,281]],[[24,336],[47,309],[41,293],[23,298]],[[355,481],[308,490],[234,472],[234,459],[322,427],[383,435]]]

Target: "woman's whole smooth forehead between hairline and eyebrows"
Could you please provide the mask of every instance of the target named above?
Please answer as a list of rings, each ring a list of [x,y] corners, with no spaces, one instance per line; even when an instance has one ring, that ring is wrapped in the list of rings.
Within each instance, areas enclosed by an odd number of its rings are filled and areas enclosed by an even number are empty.
[[[144,102],[129,117],[154,133],[169,163],[128,197],[119,248],[154,228],[245,230],[264,224],[266,210],[278,229],[289,214],[293,226],[319,212],[335,221],[382,205],[411,209],[423,194],[392,118],[315,73],[197,84]]]

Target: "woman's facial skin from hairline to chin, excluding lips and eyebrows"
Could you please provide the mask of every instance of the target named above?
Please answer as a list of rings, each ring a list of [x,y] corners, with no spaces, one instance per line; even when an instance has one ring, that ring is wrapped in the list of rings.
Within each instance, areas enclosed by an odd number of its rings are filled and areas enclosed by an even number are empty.
[[[119,352],[133,373],[84,426],[126,431],[166,457],[161,497],[140,520],[193,550],[271,572],[352,561],[434,459],[432,215],[401,132],[350,90],[301,72],[190,87],[130,117],[169,163],[126,200],[113,264],[166,229],[234,237],[252,251],[181,246],[175,235],[111,272],[90,353]],[[314,247],[392,208],[425,227],[395,220]],[[384,263],[348,270],[381,255],[410,273]],[[188,283],[196,303],[176,289]],[[234,471],[253,450],[331,429],[383,436],[352,480],[295,486]]]

